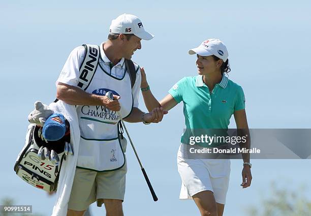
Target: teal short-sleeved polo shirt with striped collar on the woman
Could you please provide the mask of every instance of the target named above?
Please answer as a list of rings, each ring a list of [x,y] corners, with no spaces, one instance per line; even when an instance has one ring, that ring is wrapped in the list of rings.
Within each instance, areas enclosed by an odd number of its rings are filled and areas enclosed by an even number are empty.
[[[181,142],[184,144],[189,144],[190,136],[194,135],[191,131],[196,131],[194,129],[228,129],[234,111],[245,108],[242,87],[225,75],[211,94],[202,75],[182,78],[169,90],[169,94],[177,103],[183,102],[186,130]]]

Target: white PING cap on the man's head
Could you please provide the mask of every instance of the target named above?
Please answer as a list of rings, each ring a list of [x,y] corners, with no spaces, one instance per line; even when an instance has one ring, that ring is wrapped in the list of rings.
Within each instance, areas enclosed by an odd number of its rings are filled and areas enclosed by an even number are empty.
[[[143,40],[151,40],[154,36],[146,32],[141,20],[132,14],[122,14],[111,21],[109,33],[134,34]]]

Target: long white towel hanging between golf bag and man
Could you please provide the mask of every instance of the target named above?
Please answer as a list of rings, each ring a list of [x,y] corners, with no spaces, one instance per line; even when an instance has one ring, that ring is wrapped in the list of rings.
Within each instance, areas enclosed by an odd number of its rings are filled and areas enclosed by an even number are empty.
[[[51,103],[49,107],[54,112],[63,114],[70,123],[70,142],[73,145],[74,155],[66,156],[66,161],[63,161],[61,165],[56,191],[56,201],[52,212],[52,216],[66,216],[80,144],[78,115],[74,105],[69,105],[63,101]]]

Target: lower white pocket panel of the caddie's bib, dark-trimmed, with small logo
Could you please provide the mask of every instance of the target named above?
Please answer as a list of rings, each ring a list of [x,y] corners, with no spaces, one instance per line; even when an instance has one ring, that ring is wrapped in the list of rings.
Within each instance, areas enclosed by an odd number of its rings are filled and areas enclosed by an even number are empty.
[[[81,137],[78,168],[100,172],[113,171],[120,169],[124,164],[125,156],[119,137],[103,140]]]

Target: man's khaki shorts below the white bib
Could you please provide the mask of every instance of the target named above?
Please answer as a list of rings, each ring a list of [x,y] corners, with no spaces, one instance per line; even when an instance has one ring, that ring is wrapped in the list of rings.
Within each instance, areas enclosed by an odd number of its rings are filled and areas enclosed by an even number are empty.
[[[95,201],[101,207],[103,199],[124,200],[127,160],[115,171],[96,172],[76,168],[68,208],[83,211]]]

